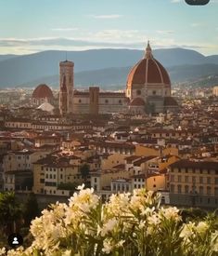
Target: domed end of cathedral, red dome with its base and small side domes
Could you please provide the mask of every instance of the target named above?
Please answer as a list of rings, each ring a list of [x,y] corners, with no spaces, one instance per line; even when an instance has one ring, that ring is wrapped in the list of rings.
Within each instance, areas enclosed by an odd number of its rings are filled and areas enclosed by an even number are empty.
[[[165,68],[155,60],[147,43],[145,56],[128,74],[126,97],[132,114],[162,113],[176,110],[178,104],[171,96],[171,80]]]

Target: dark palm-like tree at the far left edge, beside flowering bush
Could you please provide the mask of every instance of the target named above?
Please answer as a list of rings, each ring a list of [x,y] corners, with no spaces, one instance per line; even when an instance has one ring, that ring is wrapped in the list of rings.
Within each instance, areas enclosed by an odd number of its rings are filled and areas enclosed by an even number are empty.
[[[0,227],[6,235],[17,232],[22,220],[22,209],[13,192],[0,193]]]

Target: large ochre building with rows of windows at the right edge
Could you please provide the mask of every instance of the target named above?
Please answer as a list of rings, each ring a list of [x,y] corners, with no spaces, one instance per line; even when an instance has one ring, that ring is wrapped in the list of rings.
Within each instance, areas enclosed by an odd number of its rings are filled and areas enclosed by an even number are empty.
[[[180,160],[170,166],[170,200],[173,205],[217,209],[218,164]]]

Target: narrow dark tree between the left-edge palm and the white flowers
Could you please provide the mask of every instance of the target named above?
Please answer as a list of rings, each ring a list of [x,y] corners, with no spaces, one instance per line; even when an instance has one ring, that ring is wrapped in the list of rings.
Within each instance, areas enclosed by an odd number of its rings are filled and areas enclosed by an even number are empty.
[[[34,193],[30,193],[23,207],[23,218],[25,225],[30,225],[32,220],[39,215],[39,207]]]

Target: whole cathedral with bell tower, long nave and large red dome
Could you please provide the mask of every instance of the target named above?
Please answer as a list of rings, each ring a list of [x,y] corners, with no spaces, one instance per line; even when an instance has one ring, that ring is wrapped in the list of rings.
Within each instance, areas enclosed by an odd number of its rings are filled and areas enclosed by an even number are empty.
[[[71,61],[59,63],[59,111],[61,115],[130,113],[143,115],[176,111],[177,102],[171,95],[169,74],[155,60],[147,43],[144,57],[132,68],[127,77],[125,92],[100,91],[98,87],[76,90],[73,85]]]

